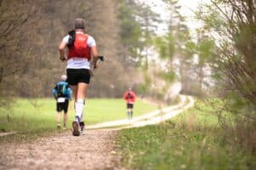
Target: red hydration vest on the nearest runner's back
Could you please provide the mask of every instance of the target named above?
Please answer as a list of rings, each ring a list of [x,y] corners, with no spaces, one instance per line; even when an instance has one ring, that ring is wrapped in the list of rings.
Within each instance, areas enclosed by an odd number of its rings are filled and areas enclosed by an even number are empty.
[[[90,60],[90,47],[87,44],[88,35],[84,33],[76,33],[73,46],[68,49],[67,58],[85,58]]]

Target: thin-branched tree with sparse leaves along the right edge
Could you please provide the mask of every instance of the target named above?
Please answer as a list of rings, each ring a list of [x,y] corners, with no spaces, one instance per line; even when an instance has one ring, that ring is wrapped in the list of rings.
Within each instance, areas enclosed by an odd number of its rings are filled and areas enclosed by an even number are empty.
[[[217,41],[214,69],[227,91],[256,105],[256,2],[211,0],[197,14]]]

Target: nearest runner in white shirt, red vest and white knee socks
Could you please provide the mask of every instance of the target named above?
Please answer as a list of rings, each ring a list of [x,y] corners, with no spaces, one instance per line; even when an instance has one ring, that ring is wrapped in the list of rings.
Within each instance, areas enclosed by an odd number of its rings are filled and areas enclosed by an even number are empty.
[[[74,31],[70,31],[62,39],[59,46],[61,61],[67,60],[67,82],[73,89],[75,96],[75,119],[73,121],[73,135],[84,134],[84,99],[90,83],[90,58],[93,57],[93,67],[97,67],[99,58],[96,42],[93,37],[84,33],[85,22],[83,19],[74,21]],[[65,48],[68,48],[66,57]],[[79,129],[80,127],[80,129]],[[80,130],[80,131],[79,131]]]

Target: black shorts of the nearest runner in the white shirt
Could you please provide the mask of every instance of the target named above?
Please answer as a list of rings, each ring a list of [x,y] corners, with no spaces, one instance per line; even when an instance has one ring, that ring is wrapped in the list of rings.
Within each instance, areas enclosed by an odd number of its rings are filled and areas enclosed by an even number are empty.
[[[69,85],[78,85],[79,82],[90,83],[90,70],[67,69],[67,82]]]

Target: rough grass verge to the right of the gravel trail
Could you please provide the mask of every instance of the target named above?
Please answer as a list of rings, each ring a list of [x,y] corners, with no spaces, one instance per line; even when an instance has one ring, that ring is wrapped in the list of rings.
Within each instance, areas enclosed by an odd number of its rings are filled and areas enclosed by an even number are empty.
[[[197,102],[172,121],[121,130],[118,144],[124,165],[160,170],[255,168],[255,156],[224,140],[224,129],[212,114],[215,109]]]

